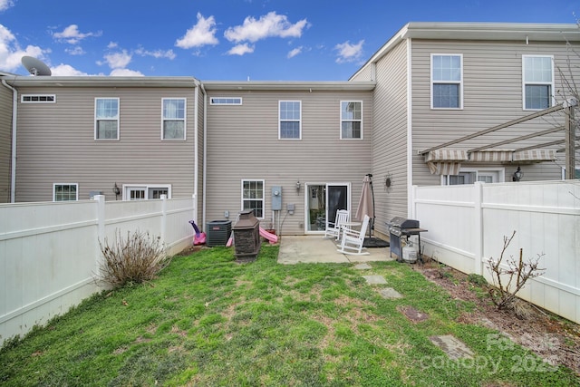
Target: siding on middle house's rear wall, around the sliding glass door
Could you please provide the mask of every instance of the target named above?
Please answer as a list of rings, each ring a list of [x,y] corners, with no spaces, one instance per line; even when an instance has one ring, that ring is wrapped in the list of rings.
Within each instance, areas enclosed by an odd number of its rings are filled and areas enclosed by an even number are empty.
[[[208,105],[206,221],[224,219],[224,211],[229,211],[235,223],[242,206],[242,179],[265,180],[261,224],[266,228],[275,226],[271,189],[282,187],[285,235],[304,234],[304,183],[350,183],[354,216],[362,179],[371,172],[371,92],[208,91],[212,96],[242,97],[243,104]],[[302,140],[278,140],[280,100],[302,102]],[[362,101],[362,140],[340,140],[341,101]],[[294,215],[287,214],[287,204],[295,205]]]

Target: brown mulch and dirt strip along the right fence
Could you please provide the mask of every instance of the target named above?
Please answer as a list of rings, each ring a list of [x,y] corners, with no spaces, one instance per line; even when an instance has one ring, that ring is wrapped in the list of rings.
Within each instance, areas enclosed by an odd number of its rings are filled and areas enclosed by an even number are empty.
[[[580,325],[524,301],[518,302],[517,314],[513,310],[498,310],[488,295],[476,291],[476,286],[481,289],[481,285],[473,285],[467,275],[449,266],[430,262],[418,263],[412,268],[447,290],[453,298],[476,305],[475,311],[461,314],[459,322],[496,329],[548,363],[565,365],[580,375]]]

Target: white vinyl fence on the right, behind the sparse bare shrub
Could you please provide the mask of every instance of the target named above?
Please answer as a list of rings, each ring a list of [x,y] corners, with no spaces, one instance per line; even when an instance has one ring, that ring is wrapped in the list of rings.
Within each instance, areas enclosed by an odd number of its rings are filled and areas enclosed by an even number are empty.
[[[414,187],[411,215],[429,230],[426,256],[489,282],[488,259],[516,231],[504,261],[521,247],[546,268],[517,295],[580,323],[580,181]]]

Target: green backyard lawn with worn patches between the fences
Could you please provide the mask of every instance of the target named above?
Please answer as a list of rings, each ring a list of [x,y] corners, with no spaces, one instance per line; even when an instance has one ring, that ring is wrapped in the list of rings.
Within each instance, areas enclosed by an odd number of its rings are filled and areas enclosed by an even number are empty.
[[[498,333],[459,323],[475,306],[408,265],[276,264],[263,245],[240,265],[233,249],[176,256],[149,284],[103,292],[0,351],[2,386],[571,386]],[[368,285],[363,275],[384,276]],[[385,299],[378,290],[396,289]],[[412,306],[429,314],[411,323]],[[430,342],[452,334],[474,353],[449,360]]]

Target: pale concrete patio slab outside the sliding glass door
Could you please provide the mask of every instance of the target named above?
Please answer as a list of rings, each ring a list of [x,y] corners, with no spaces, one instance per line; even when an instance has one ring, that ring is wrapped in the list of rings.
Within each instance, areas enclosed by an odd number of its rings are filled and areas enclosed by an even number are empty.
[[[336,251],[336,241],[322,236],[282,236],[278,263],[295,265],[298,263],[364,263],[392,261],[389,247],[369,247],[368,256],[352,256]]]

